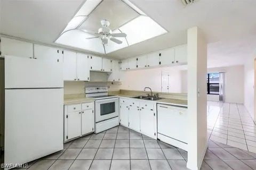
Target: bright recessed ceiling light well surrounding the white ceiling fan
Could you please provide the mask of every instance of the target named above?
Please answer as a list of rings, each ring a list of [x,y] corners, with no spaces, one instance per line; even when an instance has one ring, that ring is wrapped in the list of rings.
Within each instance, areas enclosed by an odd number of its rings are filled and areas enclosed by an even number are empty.
[[[101,28],[101,20],[110,22],[109,28],[113,33],[126,33],[126,38],[115,37],[123,41],[122,44],[109,40],[108,44],[103,46],[100,38],[86,39],[94,36],[84,31],[98,32]],[[166,32],[161,25],[129,0],[87,0],[55,43],[108,54]]]

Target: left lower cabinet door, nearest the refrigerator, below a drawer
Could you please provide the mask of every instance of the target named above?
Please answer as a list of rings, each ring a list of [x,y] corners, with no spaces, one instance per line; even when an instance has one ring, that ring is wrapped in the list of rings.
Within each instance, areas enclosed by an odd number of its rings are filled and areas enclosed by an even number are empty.
[[[81,136],[81,111],[68,113],[67,125],[67,139],[72,139]]]

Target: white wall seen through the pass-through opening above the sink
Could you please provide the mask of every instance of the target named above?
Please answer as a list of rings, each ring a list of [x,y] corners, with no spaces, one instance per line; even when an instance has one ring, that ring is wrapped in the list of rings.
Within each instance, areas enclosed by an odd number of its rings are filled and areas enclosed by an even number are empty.
[[[162,71],[170,73],[169,92],[182,92],[180,66],[122,71],[123,82],[121,89],[144,90],[145,87],[150,87],[153,91],[161,92]]]

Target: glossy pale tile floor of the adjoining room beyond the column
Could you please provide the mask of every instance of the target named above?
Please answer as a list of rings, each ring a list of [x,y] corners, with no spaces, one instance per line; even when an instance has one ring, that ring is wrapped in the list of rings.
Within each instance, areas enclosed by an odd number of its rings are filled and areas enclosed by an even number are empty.
[[[211,140],[256,153],[256,124],[244,105],[209,101],[207,125]]]

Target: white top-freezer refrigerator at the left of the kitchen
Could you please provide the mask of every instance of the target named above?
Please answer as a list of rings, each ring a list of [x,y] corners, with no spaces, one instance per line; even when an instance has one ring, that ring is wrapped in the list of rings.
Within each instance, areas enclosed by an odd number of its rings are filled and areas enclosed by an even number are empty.
[[[63,72],[58,61],[5,56],[5,164],[63,149]]]

